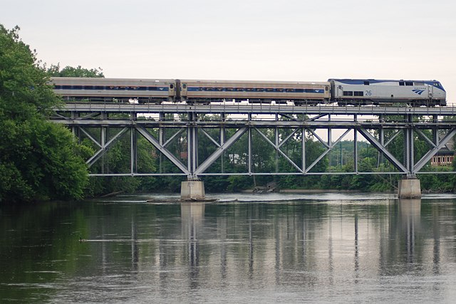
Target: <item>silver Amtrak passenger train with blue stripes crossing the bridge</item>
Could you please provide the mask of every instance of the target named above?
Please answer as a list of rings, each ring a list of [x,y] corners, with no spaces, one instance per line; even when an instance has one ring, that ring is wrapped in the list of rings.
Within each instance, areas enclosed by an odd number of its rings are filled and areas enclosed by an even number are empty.
[[[330,78],[324,82],[301,82],[54,77],[51,84],[54,92],[67,102],[447,105],[445,89],[437,80]]]

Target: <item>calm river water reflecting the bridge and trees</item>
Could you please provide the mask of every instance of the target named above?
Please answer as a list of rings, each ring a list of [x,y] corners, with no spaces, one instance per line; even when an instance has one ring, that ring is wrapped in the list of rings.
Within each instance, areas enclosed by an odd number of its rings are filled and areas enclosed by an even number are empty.
[[[0,302],[456,299],[456,196],[210,197],[2,206]]]

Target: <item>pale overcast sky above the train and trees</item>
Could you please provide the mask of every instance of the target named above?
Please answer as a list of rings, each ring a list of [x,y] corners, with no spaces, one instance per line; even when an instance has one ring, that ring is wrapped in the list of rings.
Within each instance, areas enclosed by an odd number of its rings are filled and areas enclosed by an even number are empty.
[[[41,61],[105,77],[437,79],[456,101],[456,1],[0,0]]]

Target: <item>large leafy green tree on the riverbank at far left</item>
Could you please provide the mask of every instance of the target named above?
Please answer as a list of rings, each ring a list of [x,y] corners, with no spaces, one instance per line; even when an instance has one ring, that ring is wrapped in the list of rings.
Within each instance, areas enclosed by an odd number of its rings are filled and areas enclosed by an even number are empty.
[[[0,24],[0,201],[81,199],[87,151],[46,120],[59,99],[18,33]]]

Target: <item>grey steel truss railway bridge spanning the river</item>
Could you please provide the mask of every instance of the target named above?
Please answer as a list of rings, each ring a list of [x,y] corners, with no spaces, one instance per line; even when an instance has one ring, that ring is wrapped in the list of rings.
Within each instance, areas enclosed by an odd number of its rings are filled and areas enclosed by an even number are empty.
[[[455,115],[456,108],[450,107],[81,103],[63,106],[52,119],[71,127],[78,137],[87,137],[97,147],[98,151],[87,161],[90,167],[100,163],[99,172],[93,173],[94,176],[185,175],[192,181],[204,175],[403,174],[409,186],[402,186],[402,189],[408,192],[407,187],[419,189],[416,174],[437,172],[422,169],[456,135],[456,120],[450,119]],[[103,158],[128,133],[130,169],[128,172],[109,172]],[[160,157],[158,172],[138,172],[138,135],[155,147]],[[318,143],[321,153],[310,155],[309,141],[303,138]],[[340,154],[342,159],[342,149],[338,144],[343,139],[353,140],[351,170],[321,172],[318,164],[331,158],[331,152]],[[361,169],[358,166],[361,161],[359,140],[370,142],[378,150],[379,164],[381,161],[385,165],[371,171]],[[403,147],[403,155],[388,150],[398,141]],[[276,161],[275,170],[261,171],[254,157],[259,142],[266,144],[275,154],[272,157]],[[289,154],[290,142],[294,144],[293,155]],[[424,155],[416,154],[417,142],[428,147]],[[202,155],[201,145],[206,149],[208,145],[212,146],[208,155]],[[296,150],[296,145],[299,150]],[[239,150],[239,147],[245,149]],[[165,157],[163,161],[169,160],[167,162],[174,166],[173,170],[165,171],[161,166],[162,157]],[[289,169],[281,171],[279,161],[285,162]],[[242,162],[244,172],[233,170],[230,165],[234,162]],[[417,195],[416,191],[410,191],[415,192],[411,196]]]

